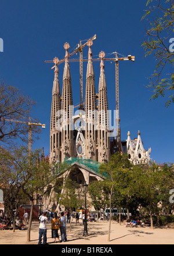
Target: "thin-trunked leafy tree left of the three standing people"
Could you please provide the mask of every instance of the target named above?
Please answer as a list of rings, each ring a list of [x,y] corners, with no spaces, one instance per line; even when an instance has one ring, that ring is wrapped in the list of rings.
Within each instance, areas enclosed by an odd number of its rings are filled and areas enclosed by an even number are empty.
[[[18,198],[17,195],[25,195],[31,204],[27,241],[30,241],[34,201],[39,200],[39,198],[48,193],[50,184],[60,174],[59,169],[55,168],[54,165],[50,165],[47,162],[40,162],[38,164],[38,153],[39,150],[35,150],[31,151],[30,155],[28,155],[28,148],[20,147],[15,148],[12,152],[1,151],[0,154],[0,175],[5,178],[3,183],[7,187],[13,184],[16,188],[16,199]]]

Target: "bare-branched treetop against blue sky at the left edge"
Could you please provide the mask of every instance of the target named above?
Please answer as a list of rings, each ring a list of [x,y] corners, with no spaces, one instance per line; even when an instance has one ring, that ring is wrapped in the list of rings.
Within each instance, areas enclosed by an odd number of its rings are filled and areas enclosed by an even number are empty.
[[[13,86],[0,84],[0,140],[3,143],[10,143],[14,138],[22,141],[28,140],[27,125],[31,115],[32,106],[35,102],[27,95],[20,93],[19,89]],[[32,130],[39,133],[38,126]]]

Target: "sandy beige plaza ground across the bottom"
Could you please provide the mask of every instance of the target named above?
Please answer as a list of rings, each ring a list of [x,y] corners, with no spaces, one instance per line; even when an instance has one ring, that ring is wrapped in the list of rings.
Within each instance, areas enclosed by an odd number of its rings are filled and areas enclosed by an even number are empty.
[[[111,222],[110,241],[108,239],[108,221],[88,223],[88,236],[84,237],[84,225],[80,220],[75,225],[75,219],[72,222],[70,232],[70,224],[67,224],[66,243],[53,243],[51,236],[51,225],[47,223],[47,242],[59,246],[60,244],[68,246],[68,244],[174,244],[174,228],[173,227],[125,227],[125,223],[121,225],[115,221]],[[60,230],[59,230],[60,235]],[[26,230],[2,230],[0,231],[0,244],[38,244],[39,238],[39,222],[33,221],[31,228],[31,241],[27,242],[27,225]]]

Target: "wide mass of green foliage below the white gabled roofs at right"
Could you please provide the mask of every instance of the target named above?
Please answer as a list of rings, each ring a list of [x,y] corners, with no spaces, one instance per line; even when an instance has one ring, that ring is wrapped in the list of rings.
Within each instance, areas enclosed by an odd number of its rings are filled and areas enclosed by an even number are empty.
[[[105,177],[101,194],[107,198],[104,201],[107,206],[111,198],[112,208],[130,209],[132,214],[137,214],[136,209],[140,208],[141,215],[147,214],[151,219],[156,216],[156,222],[159,215],[174,209],[174,204],[169,202],[169,191],[174,188],[173,164],[135,166],[127,155],[115,153],[99,169]],[[96,195],[97,190],[96,187]]]

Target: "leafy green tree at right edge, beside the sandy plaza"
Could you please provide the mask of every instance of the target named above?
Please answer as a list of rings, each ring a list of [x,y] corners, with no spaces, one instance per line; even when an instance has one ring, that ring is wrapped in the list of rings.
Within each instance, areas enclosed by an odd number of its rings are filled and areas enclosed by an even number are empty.
[[[143,199],[141,206],[150,215],[151,228],[153,229],[153,216],[156,216],[157,224],[159,224],[158,217],[162,212],[159,203],[168,197],[168,205],[170,204],[169,190],[173,187],[173,170],[166,168],[166,166],[151,163],[150,166],[134,166],[133,173],[133,184],[137,190],[137,196]]]

